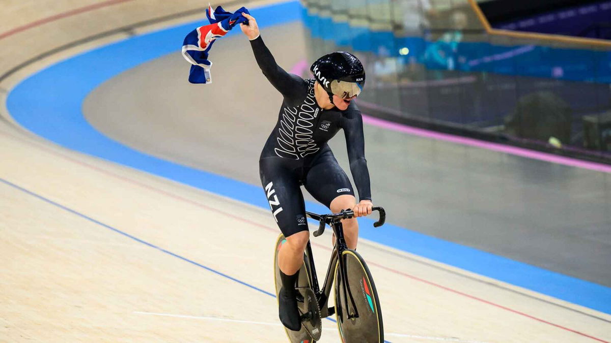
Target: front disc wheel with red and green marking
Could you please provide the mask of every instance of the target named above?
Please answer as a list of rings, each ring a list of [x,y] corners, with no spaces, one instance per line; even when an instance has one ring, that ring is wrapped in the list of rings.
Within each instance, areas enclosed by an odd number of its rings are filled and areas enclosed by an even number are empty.
[[[354,250],[344,250],[341,258],[348,280],[346,283],[348,287],[344,289],[340,262],[337,261],[335,264],[335,315],[342,342],[384,342],[384,326],[382,325],[378,292],[365,260]],[[353,304],[356,305],[356,309]]]

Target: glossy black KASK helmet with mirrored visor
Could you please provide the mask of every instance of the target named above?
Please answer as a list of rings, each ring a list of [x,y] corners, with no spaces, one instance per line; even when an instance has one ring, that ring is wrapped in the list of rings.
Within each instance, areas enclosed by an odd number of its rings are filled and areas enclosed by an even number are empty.
[[[352,98],[365,86],[365,68],[360,60],[349,52],[326,54],[312,63],[310,71],[316,81],[329,93],[340,98]],[[332,101],[332,100],[331,100]]]

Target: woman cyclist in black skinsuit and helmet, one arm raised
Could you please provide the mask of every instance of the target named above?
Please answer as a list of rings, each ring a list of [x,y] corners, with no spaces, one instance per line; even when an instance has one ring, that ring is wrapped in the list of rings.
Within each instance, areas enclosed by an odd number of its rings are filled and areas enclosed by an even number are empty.
[[[301,185],[332,212],[353,209],[355,217],[371,214],[369,171],[365,161],[363,121],[353,99],[365,84],[365,70],[352,54],[332,52],[312,64],[315,79],[304,80],[284,71],[259,34],[257,21],[243,13],[240,24],[251,42],[263,75],[284,96],[276,127],[259,159],[263,189],[276,223],[287,239],[278,253],[282,288],[280,321],[290,330],[301,328],[295,283],[303,264],[310,233],[305,220]],[[348,176],[338,165],[327,141],[343,129],[350,170],[359,191],[356,203]],[[356,218],[343,220],[346,244],[354,249],[359,226]]]

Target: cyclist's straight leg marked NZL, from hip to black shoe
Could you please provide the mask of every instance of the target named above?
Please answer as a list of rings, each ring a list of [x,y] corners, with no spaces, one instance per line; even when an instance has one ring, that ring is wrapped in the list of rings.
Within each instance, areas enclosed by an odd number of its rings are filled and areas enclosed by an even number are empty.
[[[282,288],[279,292],[280,321],[290,330],[301,328],[296,302],[295,284],[303,264],[309,231],[305,220],[305,204],[298,177],[280,157],[259,161],[259,173],[271,212],[287,242],[278,252]]]

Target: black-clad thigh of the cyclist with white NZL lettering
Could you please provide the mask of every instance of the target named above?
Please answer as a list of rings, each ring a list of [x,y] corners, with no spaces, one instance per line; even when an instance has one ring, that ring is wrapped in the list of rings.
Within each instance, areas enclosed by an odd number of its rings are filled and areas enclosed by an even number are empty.
[[[259,175],[271,212],[285,237],[307,231],[304,197],[298,176],[282,157],[259,160]]]

